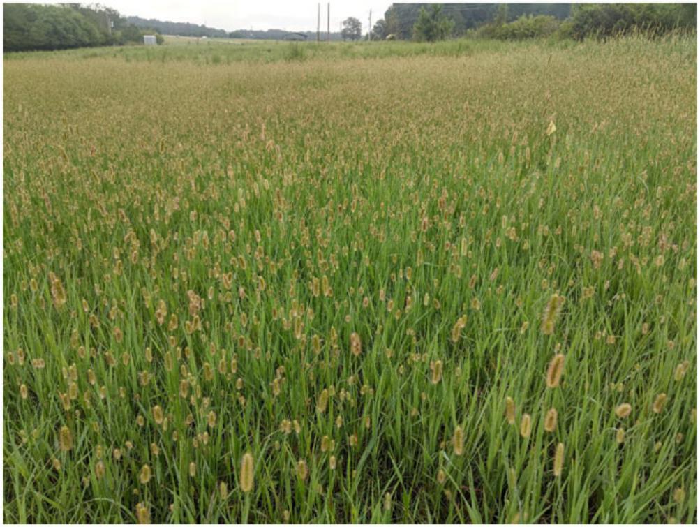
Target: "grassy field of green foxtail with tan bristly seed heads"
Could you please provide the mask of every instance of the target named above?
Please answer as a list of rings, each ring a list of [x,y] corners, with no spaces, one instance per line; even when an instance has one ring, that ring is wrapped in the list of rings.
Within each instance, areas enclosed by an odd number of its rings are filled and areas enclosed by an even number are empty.
[[[5,521],[696,521],[694,37],[373,46],[6,57]]]

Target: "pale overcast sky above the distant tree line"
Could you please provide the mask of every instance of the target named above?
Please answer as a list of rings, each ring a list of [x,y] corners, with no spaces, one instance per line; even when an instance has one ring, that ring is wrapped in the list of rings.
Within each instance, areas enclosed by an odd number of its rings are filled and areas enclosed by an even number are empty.
[[[209,27],[226,29],[288,29],[315,31],[318,1],[290,0],[99,0],[99,3],[119,11],[122,15],[158,18],[172,22],[193,22]],[[339,31],[347,17],[362,22],[363,33],[372,10],[372,24],[384,17],[391,6],[387,0],[335,0],[330,2],[330,30]],[[325,31],[328,1],[321,1],[321,31]]]

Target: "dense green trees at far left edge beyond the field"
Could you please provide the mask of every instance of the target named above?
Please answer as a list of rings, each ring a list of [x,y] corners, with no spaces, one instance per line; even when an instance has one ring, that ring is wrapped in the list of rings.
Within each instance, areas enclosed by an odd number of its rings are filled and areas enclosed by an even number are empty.
[[[3,51],[122,45],[142,43],[143,38],[141,29],[110,8],[3,3]]]

